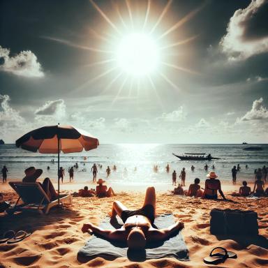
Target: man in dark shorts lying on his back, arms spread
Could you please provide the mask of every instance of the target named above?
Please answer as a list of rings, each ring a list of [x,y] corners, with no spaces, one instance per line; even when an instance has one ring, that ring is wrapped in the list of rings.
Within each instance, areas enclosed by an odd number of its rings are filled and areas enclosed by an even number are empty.
[[[147,188],[144,204],[141,209],[129,210],[119,201],[114,201],[111,218],[119,216],[124,225],[117,230],[103,230],[98,226],[87,223],[82,232],[98,234],[112,241],[126,241],[129,249],[144,250],[149,241],[164,241],[170,235],[184,228],[184,223],[177,221],[166,229],[153,227],[156,215],[156,191],[154,187]]]

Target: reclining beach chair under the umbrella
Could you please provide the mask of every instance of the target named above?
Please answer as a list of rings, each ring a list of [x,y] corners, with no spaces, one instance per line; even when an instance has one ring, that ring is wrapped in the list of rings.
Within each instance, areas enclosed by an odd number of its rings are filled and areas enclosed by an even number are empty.
[[[9,214],[15,211],[38,211],[48,214],[50,209],[58,204],[58,200],[50,201],[47,194],[38,182],[10,181],[9,185],[15,190],[19,198],[15,206],[7,209]],[[23,204],[18,204],[22,200]],[[59,195],[61,204],[68,202],[72,204],[72,195]]]

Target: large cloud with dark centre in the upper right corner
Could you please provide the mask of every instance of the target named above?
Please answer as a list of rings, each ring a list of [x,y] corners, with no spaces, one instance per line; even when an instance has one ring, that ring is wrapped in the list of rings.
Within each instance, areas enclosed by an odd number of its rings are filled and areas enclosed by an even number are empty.
[[[268,52],[267,0],[252,0],[244,9],[234,12],[221,48],[229,59],[247,59]]]

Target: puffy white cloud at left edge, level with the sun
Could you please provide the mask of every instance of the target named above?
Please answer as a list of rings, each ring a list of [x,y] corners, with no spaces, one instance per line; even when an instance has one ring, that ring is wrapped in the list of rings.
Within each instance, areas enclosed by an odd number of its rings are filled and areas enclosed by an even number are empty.
[[[0,46],[0,70],[24,77],[43,77],[44,73],[36,55],[30,50],[10,57],[10,50]]]

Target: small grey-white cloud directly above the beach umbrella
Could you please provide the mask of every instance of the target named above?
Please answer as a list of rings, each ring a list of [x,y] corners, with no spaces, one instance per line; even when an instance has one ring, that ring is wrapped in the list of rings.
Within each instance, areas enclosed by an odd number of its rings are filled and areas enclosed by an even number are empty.
[[[57,115],[58,117],[64,117],[66,114],[66,105],[64,100],[47,101],[42,107],[39,107],[36,115]]]

